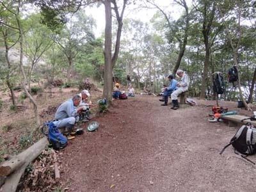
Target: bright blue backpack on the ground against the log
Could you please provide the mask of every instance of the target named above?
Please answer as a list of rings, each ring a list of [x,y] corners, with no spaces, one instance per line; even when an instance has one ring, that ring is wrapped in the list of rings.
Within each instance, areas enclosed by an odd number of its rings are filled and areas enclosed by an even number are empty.
[[[44,130],[45,127],[48,128],[47,131]],[[47,136],[51,147],[55,150],[60,150],[68,145],[67,138],[61,134],[59,129],[52,122],[45,122],[41,131],[45,136]]]

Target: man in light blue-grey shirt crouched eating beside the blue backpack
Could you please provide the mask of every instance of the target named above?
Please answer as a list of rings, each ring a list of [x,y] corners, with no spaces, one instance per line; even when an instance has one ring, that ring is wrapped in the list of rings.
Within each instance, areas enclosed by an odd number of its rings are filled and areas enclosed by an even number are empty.
[[[71,134],[73,133],[72,129],[74,129],[75,123],[79,120],[79,113],[83,110],[83,106],[76,108],[80,101],[81,97],[74,95],[72,99],[68,99],[58,107],[54,116],[53,124],[57,128],[65,128],[64,134],[68,140],[75,138]]]

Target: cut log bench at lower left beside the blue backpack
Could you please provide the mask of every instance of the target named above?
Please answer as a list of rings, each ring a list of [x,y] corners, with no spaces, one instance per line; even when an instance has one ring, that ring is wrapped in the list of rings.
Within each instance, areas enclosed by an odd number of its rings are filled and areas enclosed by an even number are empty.
[[[41,140],[37,141],[34,145],[26,149],[24,152],[21,152],[17,157],[20,161],[24,161],[25,163],[22,164],[19,168],[17,167],[16,170],[12,170],[13,173],[6,178],[5,183],[0,188],[1,192],[15,192],[16,188],[19,184],[20,177],[24,173],[26,167],[29,163],[31,163],[36,157],[38,157],[42,151],[47,147],[48,140],[46,137],[42,138]]]

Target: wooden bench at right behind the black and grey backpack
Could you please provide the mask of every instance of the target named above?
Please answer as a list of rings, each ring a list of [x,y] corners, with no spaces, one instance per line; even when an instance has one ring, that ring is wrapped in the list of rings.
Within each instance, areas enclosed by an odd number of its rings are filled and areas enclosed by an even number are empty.
[[[243,120],[244,118],[249,118],[250,116],[243,115],[225,115],[220,118],[227,122],[229,126],[245,125],[246,123],[251,123],[253,126],[256,126],[256,121],[251,121],[250,119]],[[243,120],[243,122],[241,122]]]

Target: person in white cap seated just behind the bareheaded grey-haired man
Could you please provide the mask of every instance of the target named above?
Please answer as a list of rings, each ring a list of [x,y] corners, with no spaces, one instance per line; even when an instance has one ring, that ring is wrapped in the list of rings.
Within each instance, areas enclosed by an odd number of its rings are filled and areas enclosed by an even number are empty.
[[[92,102],[88,102],[90,93],[88,92],[88,90],[83,90],[81,93],[79,93],[79,95],[81,97],[81,101],[78,107],[84,107],[81,114],[79,115],[79,118],[82,122],[88,122],[91,119],[89,109],[92,106]]]

